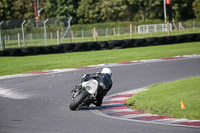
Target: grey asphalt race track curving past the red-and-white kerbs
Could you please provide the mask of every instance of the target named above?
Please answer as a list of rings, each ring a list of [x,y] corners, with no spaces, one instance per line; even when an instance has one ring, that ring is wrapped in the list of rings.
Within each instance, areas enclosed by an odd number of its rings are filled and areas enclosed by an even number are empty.
[[[108,95],[151,84],[200,76],[200,58],[111,66]],[[0,80],[0,133],[199,133],[176,127],[102,117],[90,110],[70,111],[71,89],[84,73],[101,68]],[[2,93],[3,94],[3,93]]]

